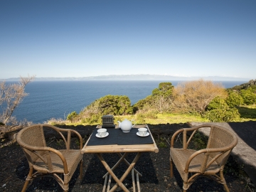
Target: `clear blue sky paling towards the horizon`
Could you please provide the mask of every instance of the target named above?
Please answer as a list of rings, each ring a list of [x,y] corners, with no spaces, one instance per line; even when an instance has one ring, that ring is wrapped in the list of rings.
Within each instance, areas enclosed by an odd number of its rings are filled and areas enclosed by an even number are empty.
[[[255,79],[256,1],[0,1],[0,79]]]

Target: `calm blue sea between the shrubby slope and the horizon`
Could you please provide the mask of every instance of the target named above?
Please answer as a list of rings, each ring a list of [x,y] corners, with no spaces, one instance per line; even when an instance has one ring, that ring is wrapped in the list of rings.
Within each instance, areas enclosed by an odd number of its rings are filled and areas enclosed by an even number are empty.
[[[26,85],[21,104],[14,111],[16,119],[33,123],[47,122],[51,118],[64,119],[70,112],[80,112],[87,105],[105,95],[127,95],[132,105],[151,95],[163,80],[87,80],[87,81],[33,81]],[[176,86],[182,81],[171,81]],[[220,82],[225,88],[244,81]]]

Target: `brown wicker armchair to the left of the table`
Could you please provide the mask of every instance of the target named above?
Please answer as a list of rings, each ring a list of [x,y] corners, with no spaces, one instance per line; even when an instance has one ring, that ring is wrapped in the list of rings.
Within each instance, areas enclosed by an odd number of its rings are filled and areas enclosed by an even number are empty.
[[[66,149],[56,150],[46,146],[44,127],[58,132],[65,142]],[[67,139],[62,132],[67,133]],[[70,149],[71,133],[76,134],[80,139],[80,149]],[[63,191],[68,191],[69,181],[79,163],[80,178],[82,178],[82,137],[75,130],[60,129],[49,124],[34,124],[21,129],[16,139],[26,155],[30,168],[22,191],[26,191],[28,182],[38,176],[52,176],[58,181]]]

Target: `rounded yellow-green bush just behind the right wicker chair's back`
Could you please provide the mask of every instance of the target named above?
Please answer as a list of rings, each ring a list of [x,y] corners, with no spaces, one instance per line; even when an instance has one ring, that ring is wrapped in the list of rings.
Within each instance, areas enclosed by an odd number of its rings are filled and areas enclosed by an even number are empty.
[[[204,117],[211,122],[232,122],[240,118],[237,109],[228,107],[228,104],[223,98],[215,97],[207,107],[208,111]]]

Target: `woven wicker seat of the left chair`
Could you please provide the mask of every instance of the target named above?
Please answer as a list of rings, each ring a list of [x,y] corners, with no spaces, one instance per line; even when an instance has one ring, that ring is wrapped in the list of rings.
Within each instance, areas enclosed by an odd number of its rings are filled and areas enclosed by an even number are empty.
[[[74,150],[74,149],[70,149],[70,150],[63,149],[58,151],[60,151],[60,153],[63,154],[63,156],[65,157],[68,165],[68,172],[70,173],[70,176],[72,176],[80,160],[82,159],[81,151]],[[45,156],[44,158],[46,159]],[[64,166],[63,166],[63,161],[61,161],[60,157],[57,154],[50,152],[50,159],[53,164],[53,171],[51,172],[63,174]],[[47,165],[41,159],[36,160],[35,164],[33,165],[33,168],[41,173],[49,173],[49,169]]]

